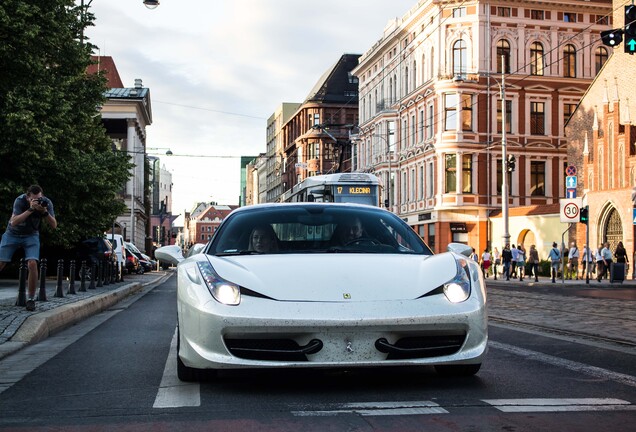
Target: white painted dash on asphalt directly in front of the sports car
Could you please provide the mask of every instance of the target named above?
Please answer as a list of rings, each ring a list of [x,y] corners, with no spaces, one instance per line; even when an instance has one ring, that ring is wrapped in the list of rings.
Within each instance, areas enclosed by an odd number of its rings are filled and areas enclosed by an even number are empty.
[[[336,416],[358,414],[361,416],[448,414],[444,408],[430,401],[406,402],[358,402],[336,406],[334,409],[313,411],[292,411],[296,417]]]

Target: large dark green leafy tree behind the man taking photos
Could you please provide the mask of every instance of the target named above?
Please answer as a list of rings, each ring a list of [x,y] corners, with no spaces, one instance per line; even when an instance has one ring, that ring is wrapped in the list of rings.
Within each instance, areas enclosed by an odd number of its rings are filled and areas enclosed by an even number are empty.
[[[73,0],[0,3],[0,229],[39,184],[58,219],[44,242],[63,248],[112,226],[130,176],[101,124],[106,80],[87,73],[94,46],[82,35],[94,16],[83,12]]]

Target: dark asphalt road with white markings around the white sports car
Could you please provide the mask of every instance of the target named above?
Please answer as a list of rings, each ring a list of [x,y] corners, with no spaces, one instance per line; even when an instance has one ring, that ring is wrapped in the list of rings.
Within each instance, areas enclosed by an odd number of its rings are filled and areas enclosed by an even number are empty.
[[[0,430],[571,432],[631,431],[636,421],[633,347],[510,322],[492,323],[471,378],[399,368],[181,383],[175,289],[171,278],[0,361]],[[490,299],[503,311],[519,303],[505,289]],[[543,314],[543,324],[553,318]]]

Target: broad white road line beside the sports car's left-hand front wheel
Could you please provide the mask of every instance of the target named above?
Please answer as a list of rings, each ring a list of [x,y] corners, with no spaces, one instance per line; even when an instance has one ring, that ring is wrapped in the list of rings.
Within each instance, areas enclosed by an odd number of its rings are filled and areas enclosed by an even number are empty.
[[[201,406],[199,383],[184,383],[177,378],[177,330],[170,343],[170,353],[163,370],[161,384],[153,408]]]

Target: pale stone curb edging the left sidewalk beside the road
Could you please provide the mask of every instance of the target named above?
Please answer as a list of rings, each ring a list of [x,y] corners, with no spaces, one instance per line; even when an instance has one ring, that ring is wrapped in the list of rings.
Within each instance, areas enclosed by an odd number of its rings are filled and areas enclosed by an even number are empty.
[[[170,276],[172,273],[167,273],[146,283],[129,283],[116,290],[98,294],[86,300],[32,315],[22,323],[9,341],[0,345],[0,360],[28,345],[40,342],[86,318],[103,312],[126,297],[141,291],[144,287],[159,285]]]

